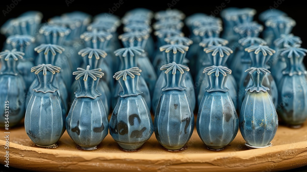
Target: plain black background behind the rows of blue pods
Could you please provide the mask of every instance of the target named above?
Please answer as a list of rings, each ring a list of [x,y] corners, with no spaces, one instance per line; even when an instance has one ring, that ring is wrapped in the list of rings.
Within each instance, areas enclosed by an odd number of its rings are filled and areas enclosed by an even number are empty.
[[[16,0],[17,1],[17,0]],[[69,3],[68,3],[69,2]],[[42,22],[47,21],[49,18],[53,16],[61,15],[65,12],[72,12],[75,10],[83,11],[92,16],[103,13],[109,12],[109,8],[112,9],[114,7],[114,3],[118,3],[119,0],[114,1],[81,1],[81,0],[41,0],[41,1],[30,1],[30,0],[20,0],[18,4],[12,8],[10,12],[4,16],[2,10],[7,10],[7,5],[10,6],[12,4],[12,0],[1,0],[0,2],[0,26],[3,25],[6,20],[10,18],[18,17],[20,14],[29,11],[29,10],[37,10],[41,11],[44,15]],[[250,7],[257,10],[257,14],[255,15],[254,20],[258,21],[258,14],[264,10],[267,10],[271,7],[274,7],[278,10],[282,10],[286,12],[291,18],[296,21],[296,26],[293,28],[292,33],[296,36],[301,37],[303,41],[302,47],[307,48],[307,30],[306,30],[306,18],[307,18],[307,6],[303,5],[298,0],[267,0],[267,1],[259,1],[259,0],[246,0],[246,1],[235,1],[235,0],[203,0],[202,3],[198,3],[192,0],[165,0],[165,1],[154,1],[154,0],[144,0],[144,1],[132,1],[132,0],[123,0],[123,4],[119,6],[114,11],[114,14],[122,17],[126,11],[134,9],[134,8],[147,8],[153,10],[154,12],[160,10],[166,10],[169,8],[169,4],[172,4],[171,9],[178,9],[183,11],[186,16],[189,16],[193,13],[206,13],[211,14],[214,10],[220,8],[219,6],[222,3],[225,3],[227,7]],[[229,2],[229,3],[227,3]],[[274,6],[275,5],[275,6]],[[216,15],[220,17],[220,14]],[[261,22],[259,22],[261,23]],[[263,23],[261,23],[263,24]],[[183,29],[185,35],[188,35],[188,29],[185,27]],[[118,29],[119,33],[122,33],[122,27]],[[6,40],[6,37],[0,35],[0,50],[2,49],[3,42]],[[305,64],[307,60],[304,60]],[[2,168],[2,167],[1,167]],[[295,167],[294,167],[295,168]],[[9,169],[5,169],[9,170]],[[13,170],[13,168],[10,168]],[[9,170],[9,171],[10,171]],[[296,169],[304,171],[306,170],[306,166]],[[18,169],[14,169],[14,171],[18,171]]]

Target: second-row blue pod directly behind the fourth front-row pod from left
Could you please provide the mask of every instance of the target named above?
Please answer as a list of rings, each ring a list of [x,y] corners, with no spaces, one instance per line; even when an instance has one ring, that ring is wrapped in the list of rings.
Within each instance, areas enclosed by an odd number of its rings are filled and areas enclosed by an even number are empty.
[[[181,44],[167,44],[161,46],[160,51],[163,51],[163,54],[165,56],[164,57],[165,61],[167,61],[168,63],[175,62],[177,64],[181,64],[185,59],[185,55],[186,52],[188,51],[188,48],[189,48],[188,46]],[[153,97],[152,97],[153,112],[155,112],[157,109],[158,101],[162,93],[161,88],[165,85],[165,79],[163,79],[163,75],[164,75],[163,72],[160,72],[160,75],[156,81],[155,88],[153,91]],[[186,92],[189,96],[192,109],[194,110],[196,105],[196,98],[195,98],[193,79],[191,75],[186,75],[185,80],[183,80],[183,85],[187,88]]]

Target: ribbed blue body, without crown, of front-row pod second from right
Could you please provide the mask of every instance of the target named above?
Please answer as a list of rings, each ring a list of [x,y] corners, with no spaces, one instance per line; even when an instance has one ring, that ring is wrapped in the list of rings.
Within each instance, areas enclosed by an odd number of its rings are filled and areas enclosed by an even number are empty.
[[[235,139],[239,118],[228,92],[204,93],[196,129],[200,139],[211,149],[222,149]]]

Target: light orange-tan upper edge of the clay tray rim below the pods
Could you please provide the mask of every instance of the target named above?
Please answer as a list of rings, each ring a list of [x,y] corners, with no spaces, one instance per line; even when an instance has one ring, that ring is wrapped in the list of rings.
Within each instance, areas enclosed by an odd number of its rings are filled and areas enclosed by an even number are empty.
[[[4,145],[5,141],[0,140],[0,145],[2,151],[5,151]],[[150,160],[150,161],[160,161],[160,160],[172,160],[173,158],[184,158],[192,160],[193,162],[203,162],[203,160],[217,160],[219,158],[239,158],[239,159],[249,159],[255,157],[262,157],[263,155],[281,153],[284,151],[300,151],[298,154],[305,154],[305,160],[307,161],[307,141],[296,142],[296,143],[288,143],[283,145],[276,145],[272,147],[266,147],[261,149],[250,149],[245,151],[234,151],[234,152],[216,152],[216,153],[203,153],[203,154],[179,154],[174,152],[173,154],[150,154],[150,156],[144,156],[149,154],[136,154],[136,156],[129,156],[129,158],[125,158],[124,156],[118,156],[119,153],[97,153],[97,152],[75,152],[75,151],[67,151],[67,150],[56,150],[55,149],[45,149],[45,148],[38,148],[38,147],[29,147],[19,145],[17,143],[10,142],[10,149],[18,149],[21,151],[35,151],[39,154],[54,154],[56,157],[82,157],[87,161],[91,161],[95,158],[99,158],[100,160]],[[248,153],[247,153],[248,152]],[[59,154],[60,153],[60,154]],[[126,153],[126,154],[133,154]],[[205,156],[204,156],[205,155]],[[183,159],[183,160],[184,160]],[[307,165],[307,162],[306,162]]]

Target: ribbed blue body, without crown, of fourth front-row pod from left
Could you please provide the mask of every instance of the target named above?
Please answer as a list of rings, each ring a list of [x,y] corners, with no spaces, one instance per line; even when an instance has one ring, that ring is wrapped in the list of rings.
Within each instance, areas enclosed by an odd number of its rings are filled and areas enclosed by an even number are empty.
[[[194,115],[185,90],[165,90],[154,118],[158,142],[169,150],[184,147],[194,130]]]

